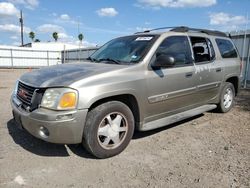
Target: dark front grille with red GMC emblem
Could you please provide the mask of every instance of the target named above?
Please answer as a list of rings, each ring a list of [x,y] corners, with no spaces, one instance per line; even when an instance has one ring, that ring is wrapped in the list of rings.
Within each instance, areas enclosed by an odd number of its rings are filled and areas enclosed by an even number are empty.
[[[28,86],[22,82],[18,83],[17,87],[17,98],[25,106],[31,106],[31,99],[36,88]]]

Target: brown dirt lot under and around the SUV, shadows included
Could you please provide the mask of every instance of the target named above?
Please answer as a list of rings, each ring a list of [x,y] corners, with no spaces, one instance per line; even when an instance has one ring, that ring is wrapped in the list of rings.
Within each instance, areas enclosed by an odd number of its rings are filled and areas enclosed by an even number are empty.
[[[250,91],[227,114],[137,132],[120,155],[98,160],[15,126],[9,98],[27,71],[0,70],[0,187],[250,187]]]

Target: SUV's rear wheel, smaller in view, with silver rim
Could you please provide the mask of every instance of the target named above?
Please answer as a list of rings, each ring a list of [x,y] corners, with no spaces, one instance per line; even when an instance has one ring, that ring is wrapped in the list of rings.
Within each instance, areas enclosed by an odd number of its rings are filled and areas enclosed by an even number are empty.
[[[231,110],[234,105],[234,98],[234,86],[232,83],[226,82],[220,95],[220,102],[217,104],[218,112],[226,113]]]

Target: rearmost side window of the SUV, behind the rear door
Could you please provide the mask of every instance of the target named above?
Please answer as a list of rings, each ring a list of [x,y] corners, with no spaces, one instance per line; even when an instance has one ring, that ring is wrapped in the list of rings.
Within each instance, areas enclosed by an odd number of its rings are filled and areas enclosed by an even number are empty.
[[[226,39],[215,39],[223,58],[236,58],[237,52],[231,41]]]

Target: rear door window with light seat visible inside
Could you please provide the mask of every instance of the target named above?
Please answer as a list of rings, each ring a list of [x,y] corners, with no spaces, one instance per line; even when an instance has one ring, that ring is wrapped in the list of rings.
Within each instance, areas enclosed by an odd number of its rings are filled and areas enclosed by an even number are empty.
[[[190,37],[196,63],[211,61],[215,58],[214,48],[209,39]]]

